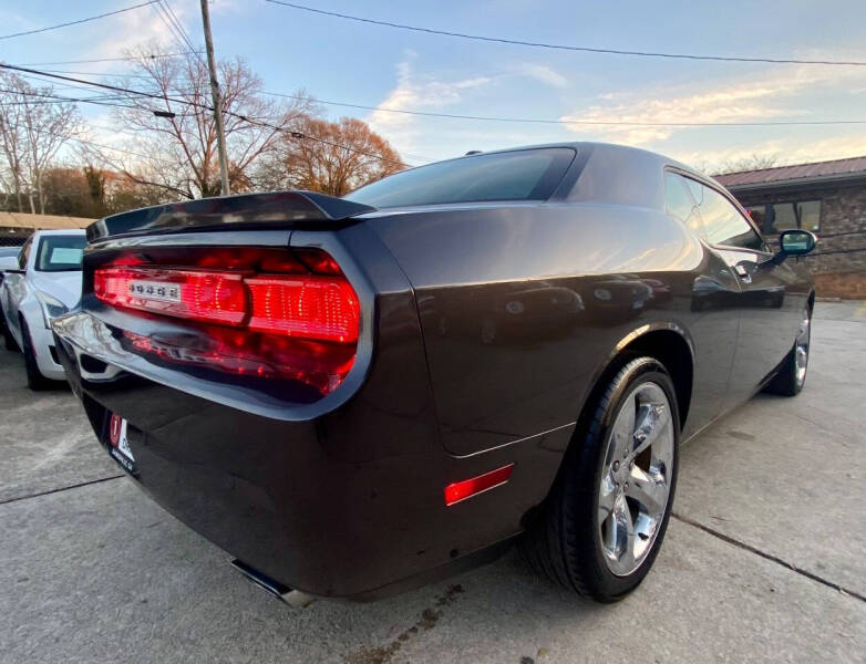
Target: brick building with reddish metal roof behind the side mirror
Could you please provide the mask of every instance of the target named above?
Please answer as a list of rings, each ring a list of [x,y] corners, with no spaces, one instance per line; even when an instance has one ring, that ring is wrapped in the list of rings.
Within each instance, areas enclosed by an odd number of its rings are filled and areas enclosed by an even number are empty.
[[[866,298],[866,156],[715,176],[767,238],[803,228],[818,238],[806,263],[818,293]]]

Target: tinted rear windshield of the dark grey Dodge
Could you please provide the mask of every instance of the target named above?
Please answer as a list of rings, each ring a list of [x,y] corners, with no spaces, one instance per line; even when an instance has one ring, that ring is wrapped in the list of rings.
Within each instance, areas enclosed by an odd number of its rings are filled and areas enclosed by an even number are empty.
[[[484,200],[546,200],[575,158],[567,147],[473,155],[385,177],[346,196],[377,208]]]

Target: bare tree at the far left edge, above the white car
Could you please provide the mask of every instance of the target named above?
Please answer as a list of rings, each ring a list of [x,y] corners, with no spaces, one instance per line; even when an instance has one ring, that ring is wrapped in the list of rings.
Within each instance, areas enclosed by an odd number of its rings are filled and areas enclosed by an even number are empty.
[[[52,87],[33,87],[22,77],[0,72],[0,141],[17,209],[27,194],[30,211],[45,214],[43,175],[61,147],[78,133],[72,103],[58,103]]]

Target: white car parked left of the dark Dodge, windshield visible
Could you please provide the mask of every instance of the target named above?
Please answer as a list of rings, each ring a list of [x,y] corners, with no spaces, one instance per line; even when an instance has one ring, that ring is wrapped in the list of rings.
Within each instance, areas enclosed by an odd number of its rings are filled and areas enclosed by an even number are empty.
[[[81,299],[86,242],[83,230],[38,230],[21,247],[16,268],[6,270],[0,286],[3,336],[7,349],[24,353],[31,390],[65,380],[50,323]]]

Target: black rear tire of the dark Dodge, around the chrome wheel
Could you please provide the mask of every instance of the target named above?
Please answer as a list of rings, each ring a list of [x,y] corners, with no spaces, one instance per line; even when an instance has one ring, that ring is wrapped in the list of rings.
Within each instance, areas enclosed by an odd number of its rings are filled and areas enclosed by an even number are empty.
[[[664,366],[652,357],[629,361],[596,390],[585,411],[556,483],[542,513],[527,528],[522,550],[529,567],[579,595],[602,603],[617,602],[643,581],[658,554],[670,519],[677,489],[680,421],[673,383]],[[612,373],[611,372],[611,373]],[[602,553],[598,523],[598,487],[610,438],[610,427],[636,383],[660,386],[670,404],[673,432],[670,490],[659,530],[638,568],[628,575],[614,574]]]

